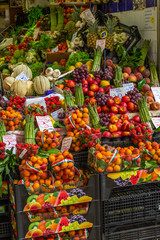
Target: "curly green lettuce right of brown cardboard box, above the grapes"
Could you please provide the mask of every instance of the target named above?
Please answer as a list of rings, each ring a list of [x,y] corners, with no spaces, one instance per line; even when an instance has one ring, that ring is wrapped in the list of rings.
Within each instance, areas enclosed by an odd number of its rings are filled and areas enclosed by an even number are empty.
[[[86,52],[77,52],[69,56],[69,59],[66,63],[66,71],[68,71],[70,66],[74,66],[77,62],[87,61],[89,54]]]

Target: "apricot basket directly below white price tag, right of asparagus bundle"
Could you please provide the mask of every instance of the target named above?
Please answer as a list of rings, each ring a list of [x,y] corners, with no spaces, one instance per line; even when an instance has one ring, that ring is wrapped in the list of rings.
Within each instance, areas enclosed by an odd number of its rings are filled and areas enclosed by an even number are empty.
[[[36,136],[36,143],[42,150],[48,151],[50,149],[60,149],[62,136],[58,132],[38,131]]]

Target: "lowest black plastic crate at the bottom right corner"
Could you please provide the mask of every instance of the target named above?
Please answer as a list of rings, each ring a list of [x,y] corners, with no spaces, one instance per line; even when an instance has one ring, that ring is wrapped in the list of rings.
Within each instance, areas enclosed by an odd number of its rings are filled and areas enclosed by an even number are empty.
[[[115,228],[109,235],[103,234],[102,240],[159,240],[160,223],[149,221]]]

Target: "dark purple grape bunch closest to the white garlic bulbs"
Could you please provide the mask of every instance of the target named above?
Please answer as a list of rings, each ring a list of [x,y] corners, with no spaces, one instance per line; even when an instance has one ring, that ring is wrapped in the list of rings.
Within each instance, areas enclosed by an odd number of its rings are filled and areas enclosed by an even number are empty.
[[[89,72],[87,71],[87,65],[82,65],[81,67],[74,69],[71,75],[76,83],[79,83],[82,80],[85,80],[87,77],[89,77]]]

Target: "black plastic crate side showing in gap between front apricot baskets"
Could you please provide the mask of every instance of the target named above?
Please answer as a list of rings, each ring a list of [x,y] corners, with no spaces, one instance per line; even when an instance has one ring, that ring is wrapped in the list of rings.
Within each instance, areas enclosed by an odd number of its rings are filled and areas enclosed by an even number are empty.
[[[88,150],[73,152],[74,165],[78,168],[85,168],[88,160]]]

